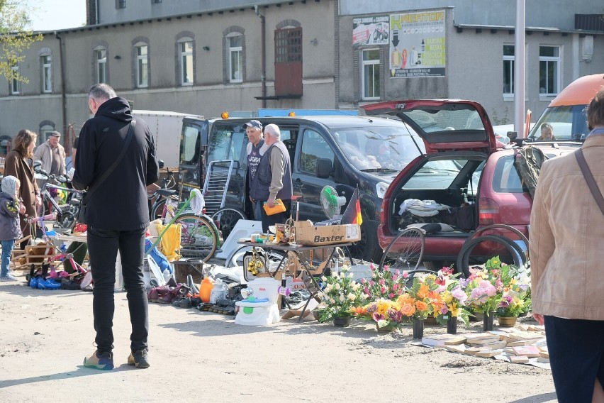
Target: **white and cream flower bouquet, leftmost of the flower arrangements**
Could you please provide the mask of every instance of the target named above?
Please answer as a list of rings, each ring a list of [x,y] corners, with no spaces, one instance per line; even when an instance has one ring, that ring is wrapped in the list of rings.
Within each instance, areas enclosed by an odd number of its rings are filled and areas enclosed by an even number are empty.
[[[342,267],[339,273],[321,277],[323,306],[318,309],[320,322],[353,316],[352,308],[362,304],[361,285],[353,277],[347,266]]]

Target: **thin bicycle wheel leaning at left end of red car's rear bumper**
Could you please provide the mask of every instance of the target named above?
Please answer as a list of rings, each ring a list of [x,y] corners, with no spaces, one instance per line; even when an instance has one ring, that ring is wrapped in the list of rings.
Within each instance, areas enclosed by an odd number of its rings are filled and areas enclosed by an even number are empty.
[[[384,250],[379,270],[388,265],[391,270],[417,270],[424,255],[424,233],[418,228],[407,228],[399,233]]]

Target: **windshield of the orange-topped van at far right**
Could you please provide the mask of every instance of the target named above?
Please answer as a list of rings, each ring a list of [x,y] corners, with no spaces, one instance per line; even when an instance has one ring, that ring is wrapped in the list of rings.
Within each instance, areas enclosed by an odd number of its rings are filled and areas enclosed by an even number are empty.
[[[545,109],[530,131],[529,138],[538,139],[541,136],[542,124],[549,123],[556,140],[584,140],[589,133],[585,109],[585,105],[553,106]]]

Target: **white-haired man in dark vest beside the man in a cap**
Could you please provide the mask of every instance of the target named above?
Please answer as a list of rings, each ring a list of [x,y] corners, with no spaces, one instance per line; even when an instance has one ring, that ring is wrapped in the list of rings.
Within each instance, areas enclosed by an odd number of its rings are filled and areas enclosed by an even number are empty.
[[[256,201],[266,202],[269,207],[274,207],[275,200],[281,199],[285,206],[284,212],[270,216],[262,209],[262,232],[267,232],[269,226],[275,223],[285,223],[289,217],[293,187],[289,152],[281,141],[279,126],[269,124],[264,128],[264,142],[269,149],[262,155],[258,163],[256,177],[250,189],[250,197]]]

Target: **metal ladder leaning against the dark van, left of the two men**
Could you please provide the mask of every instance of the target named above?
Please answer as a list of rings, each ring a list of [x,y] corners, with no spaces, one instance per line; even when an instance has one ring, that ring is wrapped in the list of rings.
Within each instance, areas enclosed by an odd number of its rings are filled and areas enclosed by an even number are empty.
[[[206,181],[203,182],[203,199],[206,201],[206,214],[212,216],[225,206],[225,199],[233,174],[234,160],[216,160],[208,162]]]

